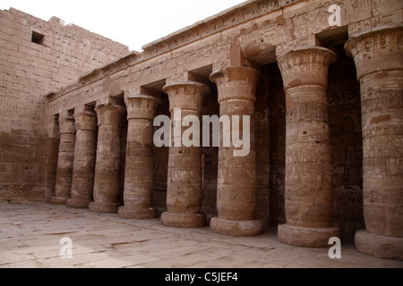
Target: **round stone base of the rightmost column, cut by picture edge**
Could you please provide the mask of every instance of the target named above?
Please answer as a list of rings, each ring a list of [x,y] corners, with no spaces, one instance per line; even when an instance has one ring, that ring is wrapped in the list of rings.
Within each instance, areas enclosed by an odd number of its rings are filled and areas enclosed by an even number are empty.
[[[373,257],[403,260],[403,238],[356,231],[356,249]]]

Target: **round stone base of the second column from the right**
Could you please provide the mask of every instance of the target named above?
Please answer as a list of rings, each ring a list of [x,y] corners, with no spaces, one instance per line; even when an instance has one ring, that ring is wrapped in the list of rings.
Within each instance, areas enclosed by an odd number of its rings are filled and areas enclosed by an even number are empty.
[[[340,237],[339,227],[311,228],[280,224],[279,242],[305,248],[330,248],[329,239]]]

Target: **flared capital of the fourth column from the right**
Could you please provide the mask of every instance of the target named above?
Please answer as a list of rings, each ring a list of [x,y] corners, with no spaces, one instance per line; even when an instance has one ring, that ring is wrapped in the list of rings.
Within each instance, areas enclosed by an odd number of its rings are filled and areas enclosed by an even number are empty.
[[[175,108],[201,112],[204,94],[210,92],[206,85],[191,80],[172,82],[162,90],[169,97],[170,112]]]

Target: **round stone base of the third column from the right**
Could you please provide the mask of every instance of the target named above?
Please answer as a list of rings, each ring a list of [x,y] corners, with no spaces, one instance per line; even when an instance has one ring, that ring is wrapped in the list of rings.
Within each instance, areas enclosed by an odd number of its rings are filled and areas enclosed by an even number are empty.
[[[213,217],[210,221],[212,231],[229,236],[255,236],[263,231],[263,220],[227,221]]]

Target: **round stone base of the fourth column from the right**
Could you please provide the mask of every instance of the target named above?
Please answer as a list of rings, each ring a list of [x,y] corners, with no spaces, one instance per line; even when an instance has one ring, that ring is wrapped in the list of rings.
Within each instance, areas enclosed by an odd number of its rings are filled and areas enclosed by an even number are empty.
[[[194,228],[206,225],[206,214],[161,214],[161,223],[165,226],[177,228]]]

